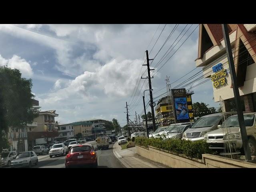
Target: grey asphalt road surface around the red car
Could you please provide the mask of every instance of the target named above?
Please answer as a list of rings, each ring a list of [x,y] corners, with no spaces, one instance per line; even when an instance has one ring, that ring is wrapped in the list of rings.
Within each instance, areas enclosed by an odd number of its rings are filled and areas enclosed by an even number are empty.
[[[96,148],[96,142],[90,142]],[[97,150],[98,168],[125,168],[113,154],[113,145],[108,150]],[[38,165],[32,168],[65,168],[65,156],[49,157],[48,154],[38,156]]]

